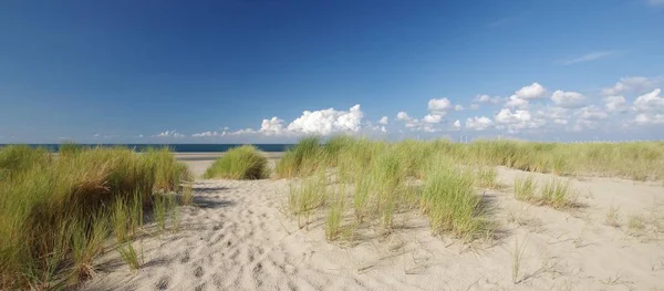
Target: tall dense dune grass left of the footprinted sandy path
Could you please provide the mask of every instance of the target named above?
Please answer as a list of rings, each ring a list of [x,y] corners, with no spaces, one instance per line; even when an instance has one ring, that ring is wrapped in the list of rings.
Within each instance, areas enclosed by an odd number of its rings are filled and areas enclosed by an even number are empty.
[[[184,167],[163,165],[124,147],[55,158],[1,148],[0,289],[62,289],[92,276],[106,238],[131,239],[153,193],[177,189]],[[167,170],[174,173],[162,175]]]

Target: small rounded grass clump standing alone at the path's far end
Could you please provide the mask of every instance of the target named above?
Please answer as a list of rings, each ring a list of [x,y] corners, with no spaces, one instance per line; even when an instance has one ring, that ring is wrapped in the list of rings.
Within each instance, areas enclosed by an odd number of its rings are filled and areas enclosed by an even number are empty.
[[[229,149],[215,160],[204,175],[207,179],[242,180],[263,179],[269,176],[268,158],[251,145]]]

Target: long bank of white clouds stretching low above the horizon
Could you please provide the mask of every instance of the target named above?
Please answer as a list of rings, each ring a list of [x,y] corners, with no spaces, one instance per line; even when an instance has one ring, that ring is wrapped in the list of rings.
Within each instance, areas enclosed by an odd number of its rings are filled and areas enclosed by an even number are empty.
[[[566,133],[595,131],[639,131],[660,128],[664,125],[664,97],[662,76],[625,76],[614,85],[585,94],[546,89],[537,82],[516,90],[507,98],[479,94],[469,104],[453,104],[448,98],[432,98],[427,114],[414,117],[407,112],[397,112],[390,122],[387,115],[377,121],[364,118],[360,104],[349,110],[325,108],[304,111],[301,116],[287,123],[273,116],[262,119],[260,127],[231,131],[194,133],[189,136],[176,131],[154,135],[158,138],[186,138],[215,141],[240,136],[252,141],[294,141],[302,136],[331,136],[349,134],[386,138],[429,134],[428,137],[445,136],[445,133],[464,132],[478,136],[528,136],[531,133]],[[494,107],[495,115],[474,116],[471,112],[481,106]],[[470,110],[465,110],[466,107]],[[450,113],[466,114],[450,118]],[[437,134],[437,135],[436,135]],[[440,135],[443,134],[443,135]]]

